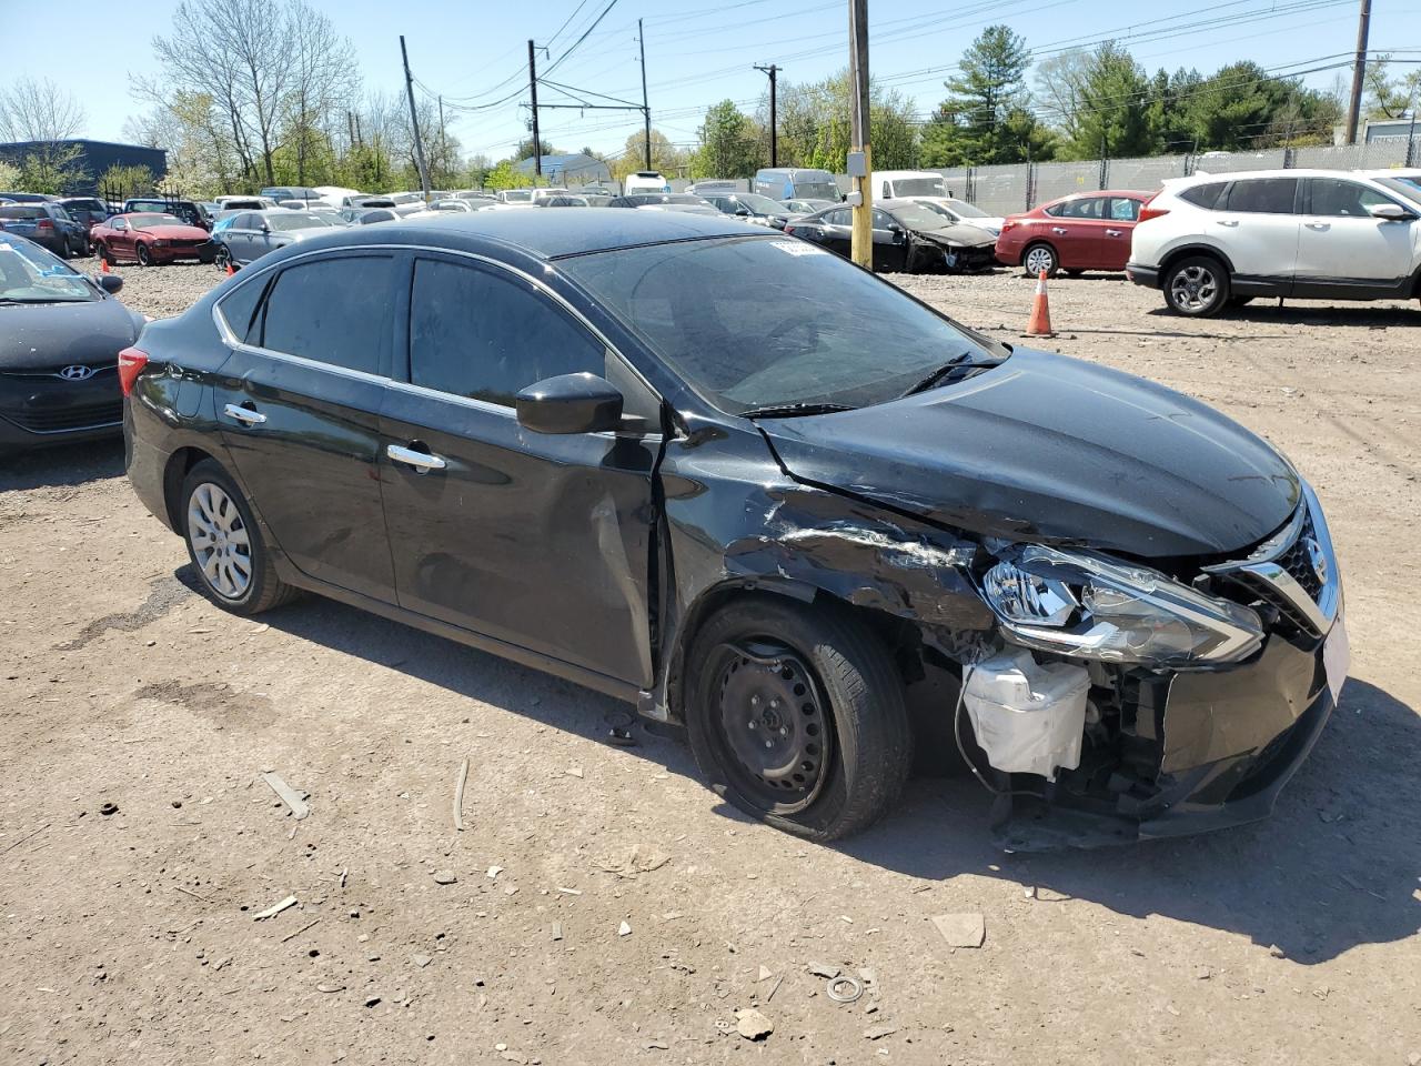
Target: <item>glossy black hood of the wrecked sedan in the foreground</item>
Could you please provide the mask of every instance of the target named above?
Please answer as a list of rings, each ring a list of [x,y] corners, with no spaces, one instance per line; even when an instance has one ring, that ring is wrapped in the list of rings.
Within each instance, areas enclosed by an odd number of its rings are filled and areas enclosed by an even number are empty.
[[[1030,350],[946,388],[759,425],[800,480],[982,536],[1142,559],[1236,554],[1300,499],[1289,462],[1212,408]]]

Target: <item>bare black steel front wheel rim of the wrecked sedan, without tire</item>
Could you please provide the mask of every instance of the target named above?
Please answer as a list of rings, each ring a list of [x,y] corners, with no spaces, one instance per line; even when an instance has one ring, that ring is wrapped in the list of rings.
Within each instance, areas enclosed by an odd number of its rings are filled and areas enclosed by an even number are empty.
[[[809,667],[780,644],[756,641],[722,644],[712,669],[718,746],[736,787],[763,810],[807,807],[824,785],[834,736]]]

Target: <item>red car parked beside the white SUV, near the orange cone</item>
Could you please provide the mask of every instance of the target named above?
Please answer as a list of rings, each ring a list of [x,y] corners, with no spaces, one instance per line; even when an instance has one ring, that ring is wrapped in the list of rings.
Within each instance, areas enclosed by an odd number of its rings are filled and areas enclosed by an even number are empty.
[[[1124,270],[1140,206],[1152,192],[1106,189],[1063,196],[1025,215],[1007,215],[996,259],[1036,277],[1042,270]]]

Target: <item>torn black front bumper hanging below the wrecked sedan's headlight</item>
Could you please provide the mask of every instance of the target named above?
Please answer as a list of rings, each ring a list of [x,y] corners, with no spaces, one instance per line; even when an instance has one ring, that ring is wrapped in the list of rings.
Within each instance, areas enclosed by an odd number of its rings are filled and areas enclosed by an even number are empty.
[[[1273,635],[1252,661],[1228,671],[1182,672],[1152,721],[1162,758],[1152,795],[1113,804],[1015,800],[998,812],[996,843],[1009,851],[1098,847],[1209,833],[1266,819],[1322,735],[1347,672],[1341,611],[1316,647]]]

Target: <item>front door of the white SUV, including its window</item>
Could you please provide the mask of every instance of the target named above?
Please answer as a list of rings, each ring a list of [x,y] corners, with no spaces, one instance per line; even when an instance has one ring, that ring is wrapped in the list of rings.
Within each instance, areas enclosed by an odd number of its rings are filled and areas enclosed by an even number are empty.
[[[1297,233],[1295,294],[1303,289],[1376,289],[1381,296],[1401,287],[1415,270],[1421,223],[1384,222],[1367,208],[1398,200],[1347,178],[1307,178]],[[1414,208],[1407,208],[1414,210]]]

